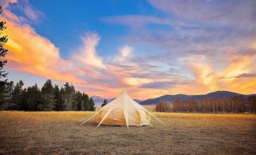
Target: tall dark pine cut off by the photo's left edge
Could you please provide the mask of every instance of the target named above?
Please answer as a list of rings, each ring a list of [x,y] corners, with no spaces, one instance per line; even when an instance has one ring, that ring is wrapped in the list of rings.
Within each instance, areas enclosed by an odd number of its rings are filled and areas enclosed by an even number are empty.
[[[2,14],[2,7],[0,6],[0,15]],[[8,90],[6,90],[8,82],[7,79],[7,72],[3,70],[4,65],[7,63],[7,60],[4,59],[5,55],[7,54],[8,50],[5,49],[4,44],[8,41],[7,36],[2,36],[3,30],[6,29],[5,22],[0,21],[0,110],[5,109],[8,107]]]

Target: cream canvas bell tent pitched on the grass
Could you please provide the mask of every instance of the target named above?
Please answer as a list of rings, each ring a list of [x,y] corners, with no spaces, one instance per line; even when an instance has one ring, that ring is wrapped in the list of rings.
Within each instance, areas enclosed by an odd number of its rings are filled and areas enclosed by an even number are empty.
[[[100,126],[100,124],[110,126],[127,126],[127,128],[129,126],[152,126],[150,123],[151,117],[162,123],[161,120],[153,114],[150,114],[150,111],[147,111],[146,108],[143,108],[131,99],[125,90],[123,90],[119,97],[113,100],[113,102],[109,102],[109,104],[100,108],[96,114],[85,118],[85,121],[82,124],[94,117],[96,117],[98,123],[97,126]]]

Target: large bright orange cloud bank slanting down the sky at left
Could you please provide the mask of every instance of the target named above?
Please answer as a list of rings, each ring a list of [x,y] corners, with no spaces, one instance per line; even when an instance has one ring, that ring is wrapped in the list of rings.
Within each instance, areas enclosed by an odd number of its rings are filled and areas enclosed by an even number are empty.
[[[66,69],[72,67],[72,62],[61,59],[59,49],[51,41],[38,35],[25,23],[4,20],[8,27],[5,29],[8,35],[8,43],[5,44],[9,50],[8,67],[57,81],[85,83]]]

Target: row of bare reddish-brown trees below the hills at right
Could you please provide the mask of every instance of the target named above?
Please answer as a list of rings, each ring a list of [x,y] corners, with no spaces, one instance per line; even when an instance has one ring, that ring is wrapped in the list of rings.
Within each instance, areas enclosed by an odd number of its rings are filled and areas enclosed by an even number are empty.
[[[166,107],[166,105],[165,105]],[[159,108],[161,111],[161,108]],[[175,99],[171,108],[163,111],[195,113],[256,113],[256,96],[233,96],[230,99]]]

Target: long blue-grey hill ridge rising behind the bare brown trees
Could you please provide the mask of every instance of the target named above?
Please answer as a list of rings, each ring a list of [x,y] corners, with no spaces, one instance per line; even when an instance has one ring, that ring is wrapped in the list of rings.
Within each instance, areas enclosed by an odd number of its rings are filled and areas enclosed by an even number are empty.
[[[256,94],[251,94],[251,95],[243,95],[239,93],[233,93],[229,91],[217,91],[217,92],[212,92],[212,93],[207,93],[205,95],[184,95],[184,94],[177,94],[177,95],[165,95],[165,96],[160,96],[155,99],[147,99],[143,102],[140,102],[141,105],[155,105],[159,102],[174,102],[175,99],[182,99],[182,100],[187,100],[187,99],[193,99],[193,100],[200,100],[200,99],[230,99],[233,96],[243,96],[248,98],[248,96],[254,96]]]

